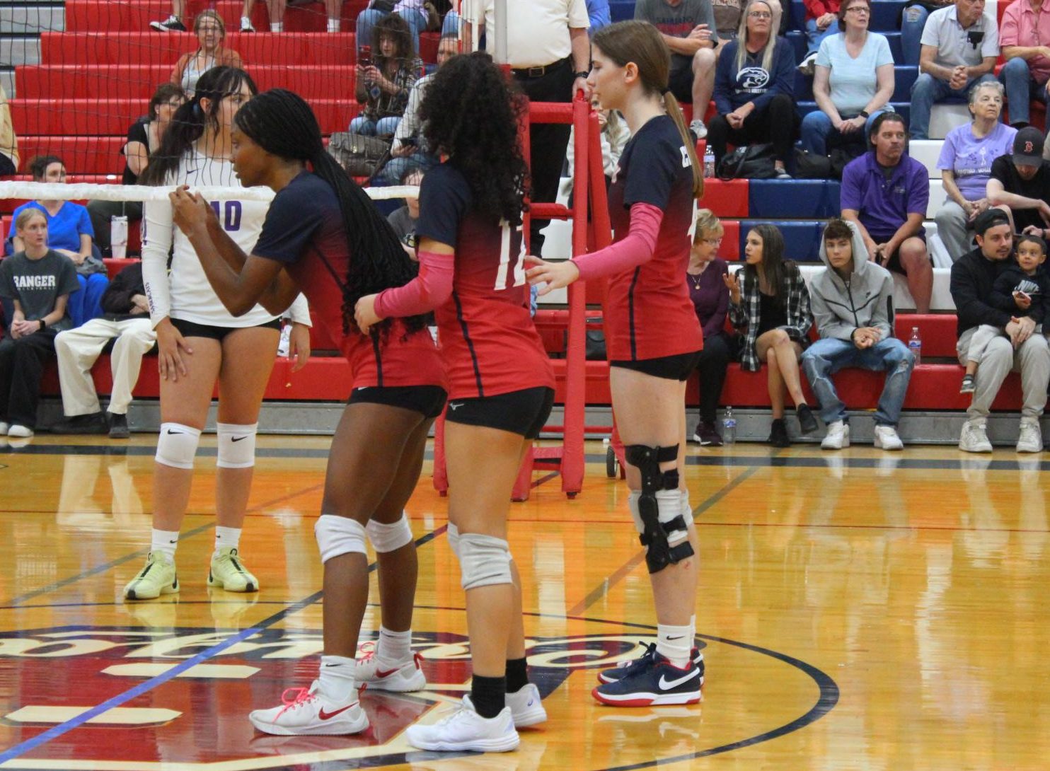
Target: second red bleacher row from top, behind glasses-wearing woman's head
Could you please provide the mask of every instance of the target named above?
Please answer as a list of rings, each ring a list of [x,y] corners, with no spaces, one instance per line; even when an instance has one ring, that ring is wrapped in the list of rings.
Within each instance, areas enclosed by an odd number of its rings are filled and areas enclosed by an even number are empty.
[[[288,67],[304,65],[338,66],[354,64],[357,48],[353,33],[281,33],[262,35],[233,33],[227,46],[237,51],[251,69],[253,62]],[[84,67],[111,64],[174,66],[178,57],[193,50],[189,35],[154,33],[43,33],[41,61],[48,64],[80,64]]]

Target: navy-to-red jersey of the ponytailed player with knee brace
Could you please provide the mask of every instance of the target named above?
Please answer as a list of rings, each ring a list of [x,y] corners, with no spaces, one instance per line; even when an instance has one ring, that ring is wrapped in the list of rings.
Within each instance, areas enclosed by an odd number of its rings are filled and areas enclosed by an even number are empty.
[[[677,127],[667,115],[631,137],[609,188],[614,239],[630,232],[631,206],[663,210],[656,250],[648,262],[609,277],[605,335],[609,361],[691,354],[704,347],[689,288],[693,169]]]

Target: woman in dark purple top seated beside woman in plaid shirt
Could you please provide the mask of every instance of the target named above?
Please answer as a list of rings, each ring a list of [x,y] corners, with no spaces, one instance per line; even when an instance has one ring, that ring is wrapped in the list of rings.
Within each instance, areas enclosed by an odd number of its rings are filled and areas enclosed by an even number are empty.
[[[715,426],[715,410],[726,382],[726,369],[732,359],[730,338],[724,328],[729,290],[722,280],[729,265],[717,256],[723,233],[721,222],[710,209],[697,212],[696,235],[686,270],[689,297],[704,327],[704,350],[696,367],[700,373],[700,421],[696,424],[693,441],[711,447],[721,446],[721,434]]]

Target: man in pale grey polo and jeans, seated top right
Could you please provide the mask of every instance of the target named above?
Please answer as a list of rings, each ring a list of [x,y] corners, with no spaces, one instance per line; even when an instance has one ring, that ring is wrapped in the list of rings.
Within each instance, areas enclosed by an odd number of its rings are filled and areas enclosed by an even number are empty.
[[[956,0],[926,19],[919,78],[911,86],[912,140],[929,138],[929,112],[938,102],[966,102],[978,83],[994,81],[999,28],[984,15],[985,0]]]

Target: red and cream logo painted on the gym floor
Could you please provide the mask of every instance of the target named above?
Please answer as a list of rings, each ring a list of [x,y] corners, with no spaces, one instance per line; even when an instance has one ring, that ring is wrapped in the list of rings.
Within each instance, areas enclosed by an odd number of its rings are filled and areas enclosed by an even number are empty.
[[[7,690],[0,732],[8,746],[62,725],[138,688],[120,708],[99,711],[62,735],[62,757],[98,768],[148,771],[231,762],[238,769],[380,768],[425,761],[403,731],[433,707],[458,703],[469,680],[469,645],[462,635],[415,631],[427,687],[415,693],[362,691],[371,727],[355,736],[270,736],[248,722],[251,709],[272,707],[308,687],[322,650],[320,630],[264,629],[208,658],[231,631],[214,628],[65,626],[0,634],[0,682]],[[606,668],[639,656],[651,638],[638,635],[531,638],[530,679],[543,698],[575,669]],[[702,643],[701,643],[702,644]],[[189,668],[178,668],[201,658]],[[98,710],[97,710],[98,711]],[[34,752],[47,755],[46,744]],[[318,755],[318,753],[323,753]],[[275,765],[279,756],[281,759]],[[351,766],[346,761],[354,761]],[[285,765],[287,763],[287,766]],[[301,766],[299,764],[311,764]],[[222,764],[220,764],[222,765]],[[85,766],[86,767],[86,766]],[[320,766],[317,766],[320,768]],[[324,765],[326,768],[329,766]],[[232,768],[232,767],[231,767]]]

